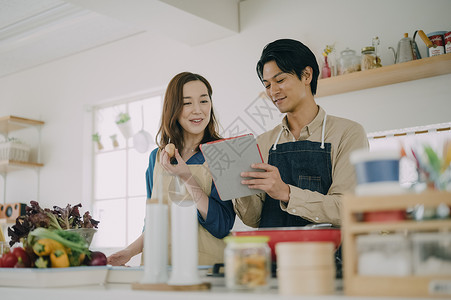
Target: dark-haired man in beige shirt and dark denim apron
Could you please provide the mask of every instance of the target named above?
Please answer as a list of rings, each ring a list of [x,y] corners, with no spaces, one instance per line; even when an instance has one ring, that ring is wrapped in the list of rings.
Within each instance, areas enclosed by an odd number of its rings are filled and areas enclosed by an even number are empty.
[[[251,227],[339,226],[342,195],[356,180],[352,151],[368,148],[363,127],[328,116],[315,102],[319,68],[299,41],[282,39],[263,49],[257,74],[281,113],[282,123],[257,138],[265,172],[243,172],[242,183],[265,193],[234,200],[243,223]]]

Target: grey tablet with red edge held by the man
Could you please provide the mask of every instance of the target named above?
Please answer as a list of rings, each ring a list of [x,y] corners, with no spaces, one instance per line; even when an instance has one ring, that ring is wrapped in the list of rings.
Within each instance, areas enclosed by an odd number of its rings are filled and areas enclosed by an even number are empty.
[[[230,200],[262,193],[241,183],[245,179],[241,172],[261,171],[251,164],[263,162],[257,141],[253,134],[217,140],[200,145],[208,164],[213,182],[222,200]]]

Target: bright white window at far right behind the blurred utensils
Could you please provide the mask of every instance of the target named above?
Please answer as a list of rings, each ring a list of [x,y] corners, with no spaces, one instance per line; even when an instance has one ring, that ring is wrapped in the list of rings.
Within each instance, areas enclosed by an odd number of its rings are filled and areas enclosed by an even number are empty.
[[[400,150],[402,145],[407,156],[400,160],[399,181],[403,187],[410,187],[419,180],[412,150],[421,158],[424,145],[429,145],[442,157],[445,144],[451,142],[451,123],[375,132],[368,134],[368,138],[370,151]]]

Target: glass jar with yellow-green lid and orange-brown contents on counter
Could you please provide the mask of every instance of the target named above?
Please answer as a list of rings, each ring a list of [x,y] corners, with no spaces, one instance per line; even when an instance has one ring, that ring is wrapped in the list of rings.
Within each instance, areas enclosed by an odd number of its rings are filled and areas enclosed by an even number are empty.
[[[226,286],[235,290],[269,287],[271,249],[267,236],[228,236],[224,239]]]

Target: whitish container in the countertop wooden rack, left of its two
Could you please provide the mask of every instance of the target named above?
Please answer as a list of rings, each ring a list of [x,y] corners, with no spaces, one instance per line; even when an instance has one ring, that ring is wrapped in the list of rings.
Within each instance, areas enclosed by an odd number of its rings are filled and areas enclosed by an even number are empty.
[[[407,276],[412,273],[410,243],[404,235],[360,235],[356,243],[359,275]]]

